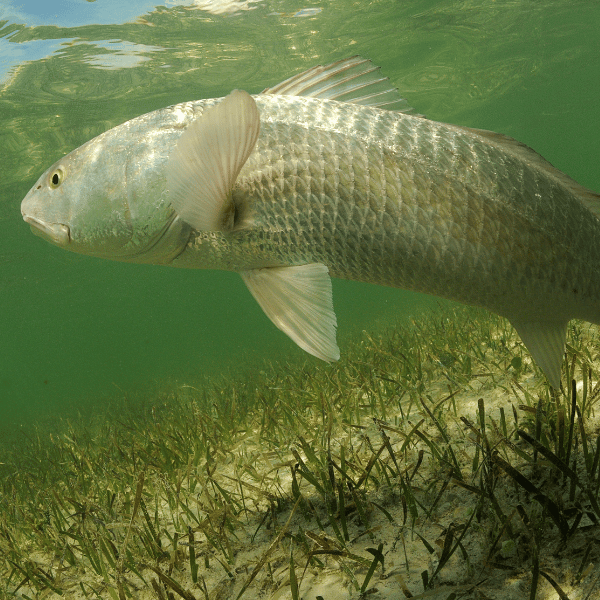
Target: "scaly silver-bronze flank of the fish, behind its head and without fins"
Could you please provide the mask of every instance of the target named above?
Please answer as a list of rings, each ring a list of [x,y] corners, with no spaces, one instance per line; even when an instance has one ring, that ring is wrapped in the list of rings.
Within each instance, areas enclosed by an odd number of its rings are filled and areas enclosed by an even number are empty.
[[[352,104],[255,100],[261,134],[234,189],[246,225],[193,237],[174,266],[320,262],[509,318],[600,322],[600,224],[533,152]]]

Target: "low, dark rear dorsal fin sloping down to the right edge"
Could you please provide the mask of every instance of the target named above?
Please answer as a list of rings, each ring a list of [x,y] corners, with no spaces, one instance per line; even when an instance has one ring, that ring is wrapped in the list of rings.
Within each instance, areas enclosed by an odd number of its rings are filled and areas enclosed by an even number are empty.
[[[577,196],[579,201],[588,208],[588,210],[596,217],[600,218],[600,194],[593,192],[577,183],[574,179],[571,179],[526,144],[523,144],[508,135],[487,131],[486,129],[473,129],[471,127],[459,128],[471,134],[479,135],[496,145],[502,146],[506,151],[510,152],[513,156],[526,164],[543,169],[550,177],[568,188],[575,196]]]

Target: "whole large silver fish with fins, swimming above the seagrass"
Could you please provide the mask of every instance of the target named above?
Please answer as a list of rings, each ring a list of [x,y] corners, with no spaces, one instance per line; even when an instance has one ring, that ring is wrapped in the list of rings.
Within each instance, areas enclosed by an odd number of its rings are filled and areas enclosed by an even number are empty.
[[[360,56],[118,125],[21,213],[74,252],[235,271],[327,362],[332,277],[497,313],[557,389],[568,322],[600,324],[600,196],[510,137],[416,113]]]

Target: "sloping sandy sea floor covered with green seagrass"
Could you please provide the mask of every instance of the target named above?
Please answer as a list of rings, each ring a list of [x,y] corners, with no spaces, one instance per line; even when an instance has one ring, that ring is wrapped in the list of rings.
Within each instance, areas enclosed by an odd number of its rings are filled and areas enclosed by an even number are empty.
[[[473,309],[349,346],[9,454],[0,597],[600,598],[596,328],[560,391]]]

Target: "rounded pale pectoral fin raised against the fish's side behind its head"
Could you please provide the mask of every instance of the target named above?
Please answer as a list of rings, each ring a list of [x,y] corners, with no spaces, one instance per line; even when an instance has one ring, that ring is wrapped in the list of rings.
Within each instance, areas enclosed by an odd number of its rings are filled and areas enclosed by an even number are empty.
[[[234,90],[181,134],[167,164],[167,189],[184,221],[199,231],[232,227],[231,190],[259,130],[254,99]]]

